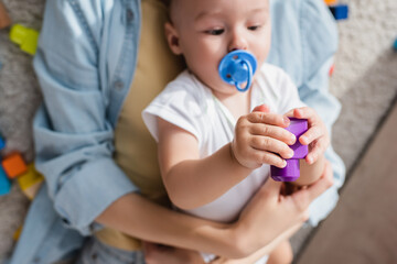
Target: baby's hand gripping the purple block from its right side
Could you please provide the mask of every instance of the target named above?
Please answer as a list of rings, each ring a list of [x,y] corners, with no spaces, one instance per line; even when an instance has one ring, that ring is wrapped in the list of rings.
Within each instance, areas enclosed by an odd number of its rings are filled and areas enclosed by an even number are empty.
[[[301,144],[309,145],[309,153],[305,157],[307,163],[309,165],[315,163],[330,145],[330,135],[324,122],[314,109],[309,107],[293,109],[286,116],[308,120],[309,129],[298,140]]]

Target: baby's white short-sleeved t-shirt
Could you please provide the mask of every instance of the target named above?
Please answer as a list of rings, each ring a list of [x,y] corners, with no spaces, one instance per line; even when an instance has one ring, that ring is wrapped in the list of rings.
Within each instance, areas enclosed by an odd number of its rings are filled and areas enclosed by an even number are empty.
[[[251,109],[266,103],[271,112],[283,114],[304,106],[288,75],[269,64],[256,74],[250,89]],[[171,81],[143,110],[142,117],[155,141],[159,139],[157,117],[192,133],[197,139],[201,158],[233,140],[237,121],[211,89],[189,70]],[[186,212],[214,221],[233,221],[268,176],[269,165],[262,165],[216,200]]]

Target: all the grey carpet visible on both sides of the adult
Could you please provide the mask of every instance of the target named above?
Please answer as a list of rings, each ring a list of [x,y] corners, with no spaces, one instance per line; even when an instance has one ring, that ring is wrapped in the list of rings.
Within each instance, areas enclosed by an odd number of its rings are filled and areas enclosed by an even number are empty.
[[[321,1],[321,0],[319,0]],[[40,30],[43,0],[3,0],[14,23]],[[352,168],[390,106],[397,91],[396,0],[351,0],[350,20],[340,22],[340,51],[331,90],[343,110],[334,127],[333,145]],[[0,133],[7,150],[18,150],[32,161],[31,121],[41,96],[31,59],[0,31]],[[6,154],[6,153],[2,153]],[[22,223],[28,206],[19,187],[0,197],[0,262],[13,245],[12,234]],[[296,250],[308,232],[294,238]]]

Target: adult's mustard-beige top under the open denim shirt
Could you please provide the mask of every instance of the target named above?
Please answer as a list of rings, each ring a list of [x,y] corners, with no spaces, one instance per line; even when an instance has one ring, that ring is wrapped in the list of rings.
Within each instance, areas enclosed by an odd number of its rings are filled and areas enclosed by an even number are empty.
[[[141,6],[138,64],[115,131],[115,160],[143,196],[161,202],[167,196],[158,166],[157,145],[144,127],[141,112],[184,65],[167,44],[163,30],[168,20],[165,4],[159,0],[142,0]],[[137,240],[116,230],[104,229],[96,235],[119,249],[139,249]]]

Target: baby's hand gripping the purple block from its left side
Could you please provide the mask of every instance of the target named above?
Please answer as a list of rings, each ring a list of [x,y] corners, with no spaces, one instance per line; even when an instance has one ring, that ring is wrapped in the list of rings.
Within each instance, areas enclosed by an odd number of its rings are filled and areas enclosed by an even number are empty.
[[[270,113],[265,105],[254,109],[238,119],[232,152],[239,164],[248,168],[257,168],[264,163],[285,167],[286,161],[293,156],[288,146],[296,142],[296,136],[285,130],[289,119]]]

